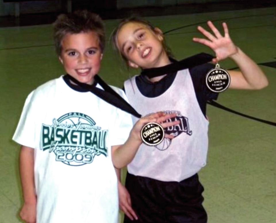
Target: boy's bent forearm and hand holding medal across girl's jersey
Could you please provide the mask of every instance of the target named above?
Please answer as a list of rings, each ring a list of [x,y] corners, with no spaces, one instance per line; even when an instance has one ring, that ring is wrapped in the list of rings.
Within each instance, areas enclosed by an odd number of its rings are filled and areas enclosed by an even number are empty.
[[[142,143],[142,139],[140,136],[140,131],[143,126],[150,122],[156,122],[162,125],[163,128],[177,125],[179,121],[173,122],[165,122],[167,119],[175,117],[176,114],[164,114],[162,112],[154,113],[153,115],[146,116],[137,121],[137,123],[133,126],[129,138],[123,145],[112,146],[112,162],[113,165],[120,169],[124,166],[127,166],[133,160],[139,146]],[[167,136],[173,138],[173,136]]]

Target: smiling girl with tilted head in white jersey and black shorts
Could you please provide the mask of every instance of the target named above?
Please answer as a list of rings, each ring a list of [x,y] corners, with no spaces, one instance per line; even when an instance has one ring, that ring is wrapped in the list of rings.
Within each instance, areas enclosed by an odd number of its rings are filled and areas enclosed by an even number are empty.
[[[226,23],[224,36],[212,22],[213,34],[198,26],[206,36],[193,38],[210,47],[217,63],[231,58],[240,71],[228,71],[230,88],[261,89],[268,85],[261,69],[232,42]],[[127,215],[124,222],[207,222],[202,206],[203,187],[197,172],[206,165],[208,120],[206,102],[218,93],[205,84],[206,73],[214,67],[204,63],[189,69],[170,57],[159,28],[149,22],[129,18],[118,25],[113,43],[127,65],[141,68],[140,75],[124,83],[130,104],[142,115],[163,110],[175,113],[180,124],[168,127],[174,135],[163,144],[150,147],[142,144],[128,165],[125,189],[119,184],[120,207]],[[137,119],[133,117],[133,123]]]

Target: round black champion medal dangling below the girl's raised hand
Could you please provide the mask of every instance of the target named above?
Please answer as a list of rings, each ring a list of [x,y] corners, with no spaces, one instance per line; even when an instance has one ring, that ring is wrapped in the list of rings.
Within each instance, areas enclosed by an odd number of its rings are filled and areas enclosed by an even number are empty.
[[[223,92],[230,84],[230,75],[219,64],[206,75],[206,85],[212,92]]]

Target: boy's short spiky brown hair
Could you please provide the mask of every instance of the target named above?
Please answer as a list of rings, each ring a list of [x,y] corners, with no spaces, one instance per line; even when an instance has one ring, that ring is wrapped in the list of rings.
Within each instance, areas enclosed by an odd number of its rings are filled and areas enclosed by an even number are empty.
[[[61,14],[53,23],[54,41],[57,55],[62,51],[62,39],[68,33],[78,34],[81,32],[95,32],[99,38],[101,52],[105,47],[104,23],[101,17],[87,10],[78,10],[70,14]]]

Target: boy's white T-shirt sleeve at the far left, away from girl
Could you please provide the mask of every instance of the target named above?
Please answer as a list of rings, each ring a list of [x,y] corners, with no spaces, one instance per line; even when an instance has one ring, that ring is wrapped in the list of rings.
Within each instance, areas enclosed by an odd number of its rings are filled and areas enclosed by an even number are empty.
[[[34,91],[32,91],[26,98],[13,140],[22,146],[30,148],[37,148],[35,137],[36,117],[39,115],[34,106]]]

